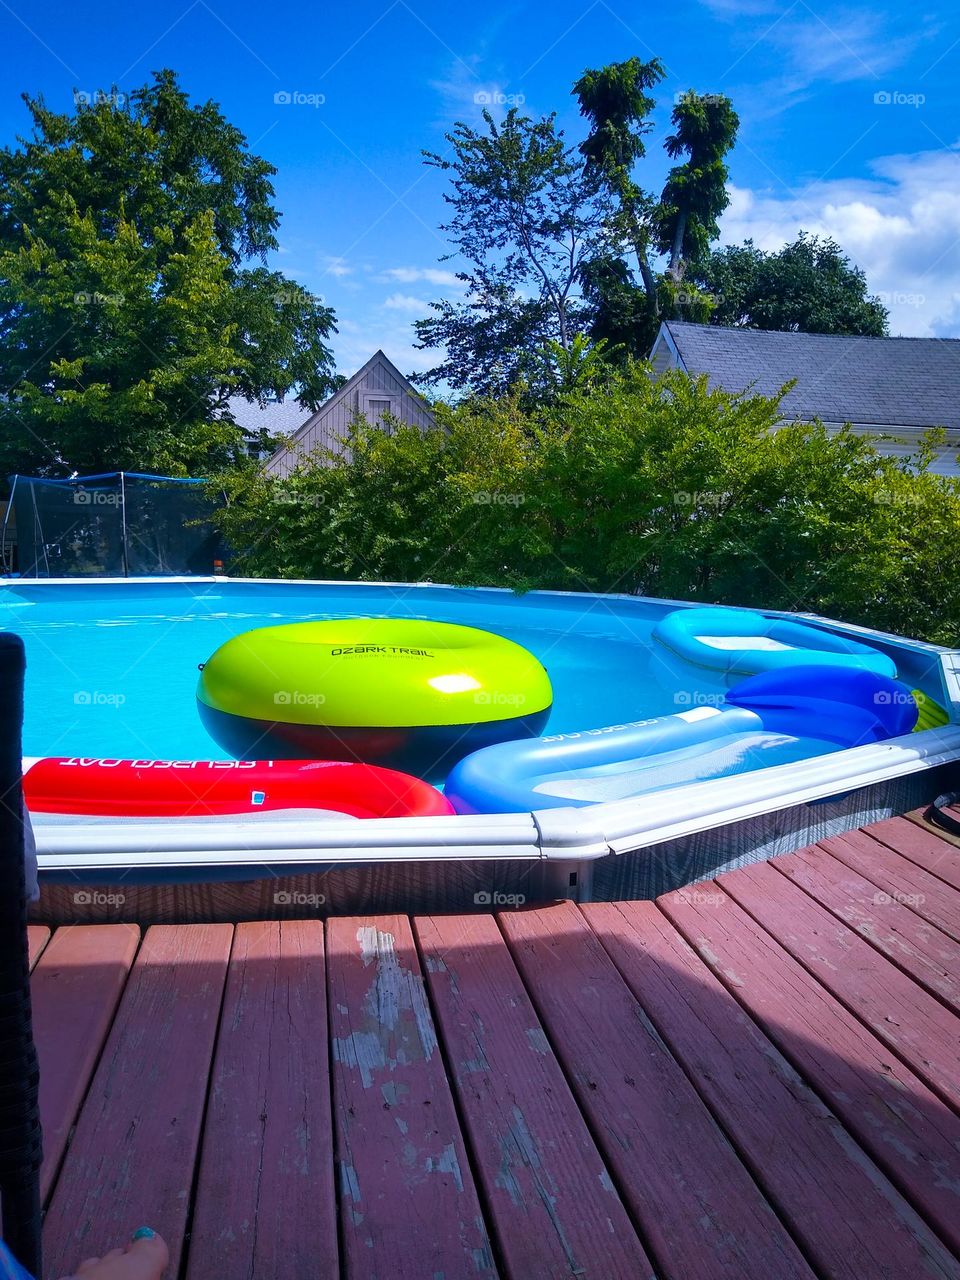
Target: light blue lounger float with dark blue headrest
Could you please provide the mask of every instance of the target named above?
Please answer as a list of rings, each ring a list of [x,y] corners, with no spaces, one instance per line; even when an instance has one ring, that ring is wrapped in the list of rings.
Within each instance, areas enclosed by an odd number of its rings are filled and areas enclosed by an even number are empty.
[[[896,680],[797,666],[748,677],[718,707],[476,751],[444,790],[457,813],[625,800],[896,737],[915,719],[910,690]]]

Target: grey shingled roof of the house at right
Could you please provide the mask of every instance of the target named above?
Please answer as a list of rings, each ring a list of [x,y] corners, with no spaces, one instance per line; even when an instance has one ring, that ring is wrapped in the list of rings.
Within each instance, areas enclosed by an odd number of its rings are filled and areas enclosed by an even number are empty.
[[[708,374],[712,387],[728,392],[753,387],[774,396],[796,379],[783,401],[794,417],[960,430],[956,338],[778,333],[678,320],[664,321],[654,349],[662,338],[687,372]]]

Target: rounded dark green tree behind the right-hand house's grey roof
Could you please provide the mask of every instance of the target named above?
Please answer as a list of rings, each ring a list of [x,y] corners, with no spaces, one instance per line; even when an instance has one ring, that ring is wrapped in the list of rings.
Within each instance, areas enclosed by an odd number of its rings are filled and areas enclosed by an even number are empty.
[[[805,236],[764,253],[753,241],[714,250],[689,279],[713,296],[710,324],[883,337],[887,311],[840,244]]]

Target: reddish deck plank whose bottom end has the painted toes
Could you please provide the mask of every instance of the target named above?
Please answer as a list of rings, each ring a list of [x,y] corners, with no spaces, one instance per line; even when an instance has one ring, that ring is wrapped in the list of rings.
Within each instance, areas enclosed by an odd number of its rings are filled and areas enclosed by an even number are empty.
[[[44,1229],[51,1276],[141,1225],[179,1268],[233,928],[154,925],[131,970]]]

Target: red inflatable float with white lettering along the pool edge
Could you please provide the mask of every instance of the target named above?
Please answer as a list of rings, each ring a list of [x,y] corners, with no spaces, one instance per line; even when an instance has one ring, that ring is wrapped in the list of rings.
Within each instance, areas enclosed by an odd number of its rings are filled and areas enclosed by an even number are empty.
[[[207,818],[279,809],[351,818],[429,818],[453,813],[420,778],[337,760],[27,759],[31,813],[102,818]]]

